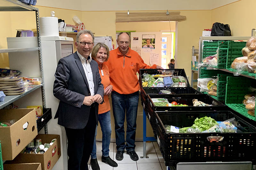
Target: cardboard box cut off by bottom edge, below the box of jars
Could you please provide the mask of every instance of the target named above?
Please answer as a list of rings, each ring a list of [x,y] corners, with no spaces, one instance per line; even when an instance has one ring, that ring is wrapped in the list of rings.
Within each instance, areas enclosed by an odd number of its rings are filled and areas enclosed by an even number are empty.
[[[42,170],[41,163],[4,164],[4,170]]]

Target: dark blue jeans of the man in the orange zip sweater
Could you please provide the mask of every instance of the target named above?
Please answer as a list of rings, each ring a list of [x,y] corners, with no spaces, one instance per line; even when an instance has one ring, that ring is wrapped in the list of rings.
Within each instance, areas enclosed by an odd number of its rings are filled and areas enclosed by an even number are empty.
[[[112,107],[115,119],[116,149],[127,152],[135,149],[136,119],[139,103],[139,92],[132,94],[119,94],[112,92]],[[124,119],[126,111],[126,144],[124,140]]]

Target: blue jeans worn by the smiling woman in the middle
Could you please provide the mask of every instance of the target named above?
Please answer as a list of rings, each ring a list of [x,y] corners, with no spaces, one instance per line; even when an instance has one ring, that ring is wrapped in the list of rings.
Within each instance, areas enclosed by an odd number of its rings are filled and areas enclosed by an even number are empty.
[[[109,156],[109,144],[111,138],[111,121],[110,121],[110,111],[99,114],[98,118],[100,122],[100,127],[102,131],[102,156],[108,157]],[[97,125],[96,131],[94,136],[94,143],[92,147],[91,159],[96,159],[96,136],[97,136]]]

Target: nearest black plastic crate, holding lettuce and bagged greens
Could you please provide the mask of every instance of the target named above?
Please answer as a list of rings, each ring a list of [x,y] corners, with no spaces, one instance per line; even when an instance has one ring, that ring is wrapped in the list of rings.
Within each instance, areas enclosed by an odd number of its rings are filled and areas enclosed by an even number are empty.
[[[252,161],[255,162],[256,128],[230,111],[168,111],[155,112],[156,138],[166,166],[179,162]],[[216,121],[235,117],[243,133],[168,133],[165,124],[189,127],[198,117],[208,116]],[[222,141],[208,141],[209,136],[224,137]]]

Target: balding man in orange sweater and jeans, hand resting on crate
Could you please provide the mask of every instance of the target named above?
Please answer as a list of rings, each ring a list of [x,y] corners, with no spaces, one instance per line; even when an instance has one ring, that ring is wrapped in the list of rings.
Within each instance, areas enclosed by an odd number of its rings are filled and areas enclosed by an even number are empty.
[[[110,51],[106,62],[109,69],[110,84],[113,86],[111,94],[116,132],[116,160],[124,158],[126,149],[131,159],[139,159],[135,149],[136,118],[139,103],[139,80],[136,75],[140,69],[163,69],[156,64],[149,66],[144,63],[140,55],[129,45],[131,37],[128,33],[119,33],[116,40],[118,48]],[[126,144],[124,140],[124,119],[126,111]]]

